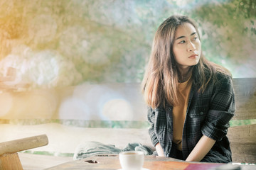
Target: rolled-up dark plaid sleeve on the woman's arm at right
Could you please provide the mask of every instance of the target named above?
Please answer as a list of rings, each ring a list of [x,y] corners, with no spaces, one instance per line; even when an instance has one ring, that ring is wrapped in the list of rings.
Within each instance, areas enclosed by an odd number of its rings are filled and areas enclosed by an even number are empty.
[[[203,135],[213,140],[220,141],[227,135],[230,127],[229,121],[235,113],[235,94],[233,82],[230,77],[225,77],[215,84],[215,91],[210,101],[210,109],[206,115],[206,122],[201,131]]]

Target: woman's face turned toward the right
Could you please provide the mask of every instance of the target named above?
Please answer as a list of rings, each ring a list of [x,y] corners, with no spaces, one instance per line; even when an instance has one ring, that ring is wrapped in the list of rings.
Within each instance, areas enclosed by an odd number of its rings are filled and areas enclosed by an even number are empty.
[[[186,70],[198,64],[201,57],[201,41],[191,23],[184,23],[176,29],[173,52],[178,69]]]

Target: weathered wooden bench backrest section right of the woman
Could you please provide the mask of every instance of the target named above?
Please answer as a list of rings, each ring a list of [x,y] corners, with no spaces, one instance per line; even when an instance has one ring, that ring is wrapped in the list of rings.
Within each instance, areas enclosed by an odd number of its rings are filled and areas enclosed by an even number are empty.
[[[256,124],[246,125],[256,119],[256,78],[233,79],[236,111],[232,121],[240,121],[230,127],[228,138],[233,162],[256,163]]]

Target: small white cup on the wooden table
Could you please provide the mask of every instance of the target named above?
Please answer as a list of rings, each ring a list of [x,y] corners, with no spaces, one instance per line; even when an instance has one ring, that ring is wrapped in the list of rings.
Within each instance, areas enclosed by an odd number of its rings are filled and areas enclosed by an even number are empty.
[[[144,164],[144,153],[142,151],[121,152],[119,161],[122,170],[141,170]]]

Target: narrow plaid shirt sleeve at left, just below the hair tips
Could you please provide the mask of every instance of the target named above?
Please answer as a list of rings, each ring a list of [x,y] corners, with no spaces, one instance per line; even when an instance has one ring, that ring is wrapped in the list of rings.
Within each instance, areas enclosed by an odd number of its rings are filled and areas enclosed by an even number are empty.
[[[153,109],[151,107],[148,107],[148,122],[149,122],[149,135],[150,135],[150,139],[152,144],[154,145],[154,147],[156,146],[157,143],[159,143],[159,140],[156,137],[156,133],[154,130],[154,123],[155,123],[155,111],[153,111]]]

